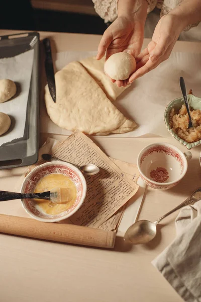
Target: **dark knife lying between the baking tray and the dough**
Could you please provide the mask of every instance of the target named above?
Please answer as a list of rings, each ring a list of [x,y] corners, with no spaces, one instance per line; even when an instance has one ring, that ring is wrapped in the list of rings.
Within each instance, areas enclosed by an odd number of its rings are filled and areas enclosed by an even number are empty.
[[[49,87],[50,95],[54,103],[56,103],[56,85],[55,85],[55,78],[54,78],[54,67],[52,61],[52,53],[51,53],[51,45],[50,39],[46,38],[43,40],[43,45],[45,47],[45,72],[47,77],[47,84]]]

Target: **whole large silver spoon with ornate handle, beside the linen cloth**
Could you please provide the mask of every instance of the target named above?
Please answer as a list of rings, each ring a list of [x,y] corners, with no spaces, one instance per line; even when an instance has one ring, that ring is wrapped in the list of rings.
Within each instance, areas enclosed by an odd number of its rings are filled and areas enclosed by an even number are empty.
[[[132,244],[143,244],[151,241],[156,236],[156,225],[169,214],[182,208],[185,205],[193,204],[201,199],[201,188],[197,189],[185,201],[176,206],[173,210],[169,211],[158,220],[151,222],[149,220],[139,220],[133,223],[124,235],[124,240]]]

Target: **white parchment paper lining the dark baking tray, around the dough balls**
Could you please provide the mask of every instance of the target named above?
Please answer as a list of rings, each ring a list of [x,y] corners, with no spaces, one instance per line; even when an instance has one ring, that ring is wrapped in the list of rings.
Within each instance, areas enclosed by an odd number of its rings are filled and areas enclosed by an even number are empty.
[[[16,96],[0,104],[0,112],[11,118],[9,131],[0,136],[0,146],[24,136],[33,58],[32,49],[15,57],[0,59],[0,79],[10,79],[17,85]]]

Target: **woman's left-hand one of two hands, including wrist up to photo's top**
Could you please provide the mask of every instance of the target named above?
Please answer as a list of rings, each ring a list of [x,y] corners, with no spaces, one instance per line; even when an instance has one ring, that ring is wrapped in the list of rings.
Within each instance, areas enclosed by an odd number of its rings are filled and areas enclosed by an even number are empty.
[[[106,53],[106,60],[114,53],[126,51],[136,57],[142,48],[147,1],[119,0],[118,18],[105,31],[98,45],[97,60]],[[127,80],[115,81],[117,86],[127,86]]]

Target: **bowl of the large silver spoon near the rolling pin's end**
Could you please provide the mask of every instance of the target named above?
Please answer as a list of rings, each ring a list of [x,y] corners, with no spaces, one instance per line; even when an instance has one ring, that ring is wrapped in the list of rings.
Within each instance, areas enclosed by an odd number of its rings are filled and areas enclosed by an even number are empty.
[[[148,243],[156,236],[156,223],[139,220],[132,224],[124,235],[124,240],[132,244]]]

